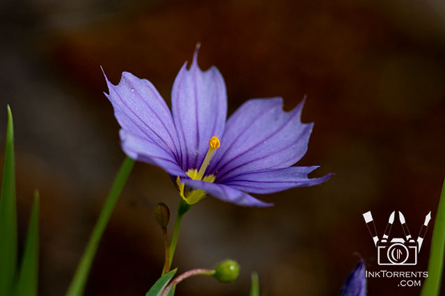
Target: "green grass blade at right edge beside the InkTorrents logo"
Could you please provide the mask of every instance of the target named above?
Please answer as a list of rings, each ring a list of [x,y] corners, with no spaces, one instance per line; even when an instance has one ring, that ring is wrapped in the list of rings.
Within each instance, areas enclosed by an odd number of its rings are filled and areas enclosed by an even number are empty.
[[[430,260],[428,261],[428,277],[423,283],[421,296],[439,295],[442,270],[444,268],[445,247],[445,180],[440,195],[434,229],[432,231]]]

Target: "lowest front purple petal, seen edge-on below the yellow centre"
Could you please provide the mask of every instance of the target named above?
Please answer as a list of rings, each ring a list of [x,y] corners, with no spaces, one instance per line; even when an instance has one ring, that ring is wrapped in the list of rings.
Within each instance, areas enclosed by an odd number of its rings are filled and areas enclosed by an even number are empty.
[[[244,207],[270,207],[273,204],[257,200],[252,195],[239,191],[224,184],[216,184],[198,180],[184,179],[181,180],[186,186],[193,189],[202,189],[209,195],[223,200],[224,202],[232,202]]]

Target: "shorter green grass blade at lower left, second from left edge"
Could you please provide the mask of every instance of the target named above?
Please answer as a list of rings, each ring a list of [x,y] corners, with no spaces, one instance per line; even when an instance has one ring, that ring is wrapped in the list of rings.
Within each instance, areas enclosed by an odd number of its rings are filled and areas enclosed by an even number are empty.
[[[34,193],[28,234],[17,282],[17,296],[36,296],[39,269],[39,192]]]

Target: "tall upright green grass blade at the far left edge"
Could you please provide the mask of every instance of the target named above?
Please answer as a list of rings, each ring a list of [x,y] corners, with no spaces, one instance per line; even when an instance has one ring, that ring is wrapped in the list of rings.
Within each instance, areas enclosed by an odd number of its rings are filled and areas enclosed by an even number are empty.
[[[10,295],[17,272],[17,213],[13,114],[8,105],[8,128],[0,195],[0,295]]]

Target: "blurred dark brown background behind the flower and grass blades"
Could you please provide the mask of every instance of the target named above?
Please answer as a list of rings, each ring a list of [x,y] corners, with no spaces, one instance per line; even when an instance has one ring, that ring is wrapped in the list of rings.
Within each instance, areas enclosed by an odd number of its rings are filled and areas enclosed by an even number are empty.
[[[34,188],[41,194],[40,295],[63,295],[124,158],[99,66],[151,80],[170,103],[195,44],[216,65],[229,114],[248,98],[304,95],[315,128],[300,165],[334,172],[320,186],[260,196],[249,209],[209,198],[184,218],[179,272],[241,263],[232,284],[196,277],[177,295],[248,295],[259,272],[268,295],[338,295],[358,252],[377,271],[362,213],[380,236],[391,211],[413,236],[444,178],[445,4],[390,1],[51,1],[0,3],[0,139],[13,109],[21,240]],[[3,143],[1,144],[3,146]],[[137,164],[106,229],[86,295],[145,295],[163,264],[152,216],[179,195],[161,169]],[[432,223],[419,264],[426,270]],[[393,233],[400,233],[398,219]],[[171,232],[171,229],[170,229]],[[391,270],[391,268],[387,268]],[[394,270],[401,270],[395,268]],[[371,279],[369,295],[419,295]]]

